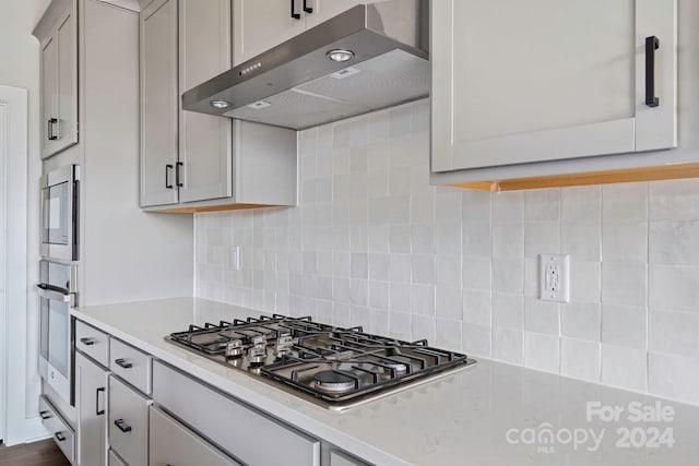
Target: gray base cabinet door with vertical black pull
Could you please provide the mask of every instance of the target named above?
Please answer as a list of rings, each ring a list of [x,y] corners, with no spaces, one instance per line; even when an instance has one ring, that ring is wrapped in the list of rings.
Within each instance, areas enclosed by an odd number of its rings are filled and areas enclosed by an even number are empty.
[[[104,466],[107,446],[105,408],[107,371],[75,353],[78,464]]]

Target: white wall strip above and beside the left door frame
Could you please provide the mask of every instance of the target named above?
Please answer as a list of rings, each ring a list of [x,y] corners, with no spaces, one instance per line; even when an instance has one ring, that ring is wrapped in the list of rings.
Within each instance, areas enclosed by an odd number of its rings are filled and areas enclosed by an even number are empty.
[[[33,285],[38,276],[38,206],[39,178],[39,46],[32,29],[50,0],[0,0],[0,84],[28,89],[28,238],[27,238],[27,328],[26,336],[26,406],[28,417],[37,416],[40,378],[36,370],[38,349],[38,299]],[[9,174],[12,176],[12,174]],[[11,225],[10,225],[11,227]],[[9,374],[11,378],[12,374]],[[10,379],[12,380],[12,379]],[[13,381],[14,383],[14,381]],[[8,432],[12,435],[13,432]],[[20,432],[19,432],[20,433]],[[29,431],[26,435],[32,435]],[[24,434],[16,441],[28,439]]]

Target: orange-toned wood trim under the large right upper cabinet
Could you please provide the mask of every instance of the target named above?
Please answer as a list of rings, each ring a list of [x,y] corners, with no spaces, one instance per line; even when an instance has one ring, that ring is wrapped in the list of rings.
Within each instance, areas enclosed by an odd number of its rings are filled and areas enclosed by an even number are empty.
[[[627,168],[585,174],[555,175],[550,177],[520,178],[502,181],[454,183],[448,186],[477,191],[502,192],[542,188],[674,180],[682,178],[699,178],[699,163],[663,165],[660,167]]]

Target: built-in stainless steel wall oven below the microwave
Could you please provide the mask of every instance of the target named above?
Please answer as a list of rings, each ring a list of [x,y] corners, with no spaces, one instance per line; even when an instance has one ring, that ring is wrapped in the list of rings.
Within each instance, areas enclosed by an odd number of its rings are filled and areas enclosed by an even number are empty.
[[[39,373],[71,405],[72,383],[70,308],[78,306],[75,265],[39,262]]]

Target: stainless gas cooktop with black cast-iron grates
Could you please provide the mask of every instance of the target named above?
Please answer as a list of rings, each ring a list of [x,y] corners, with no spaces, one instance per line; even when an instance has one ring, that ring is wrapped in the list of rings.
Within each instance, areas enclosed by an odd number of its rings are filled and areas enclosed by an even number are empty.
[[[274,314],[190,325],[166,340],[334,410],[476,363],[426,339],[402,342],[310,316]]]

